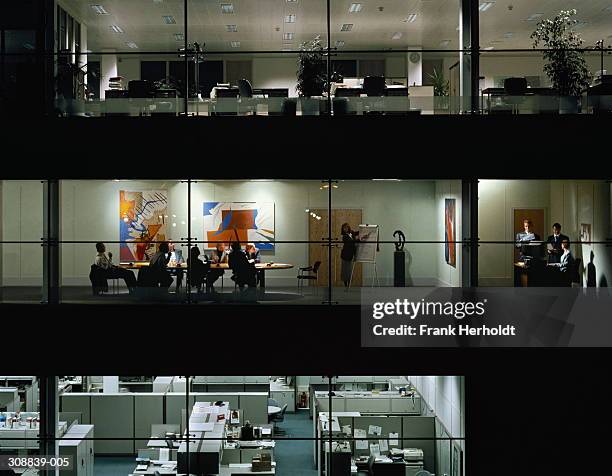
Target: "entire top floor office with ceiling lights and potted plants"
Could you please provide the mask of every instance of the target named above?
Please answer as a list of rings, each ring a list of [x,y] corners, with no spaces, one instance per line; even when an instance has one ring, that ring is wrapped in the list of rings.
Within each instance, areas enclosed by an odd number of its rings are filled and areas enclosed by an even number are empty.
[[[610,109],[605,2],[40,0],[1,21],[2,107],[54,116]],[[564,19],[565,18],[565,19]],[[536,36],[562,25],[563,47]],[[556,42],[555,45],[559,45]],[[556,54],[554,54],[556,53]],[[561,58],[561,59],[559,59]],[[570,65],[576,74],[565,74]],[[38,91],[34,92],[35,89]],[[31,112],[28,112],[31,111]]]

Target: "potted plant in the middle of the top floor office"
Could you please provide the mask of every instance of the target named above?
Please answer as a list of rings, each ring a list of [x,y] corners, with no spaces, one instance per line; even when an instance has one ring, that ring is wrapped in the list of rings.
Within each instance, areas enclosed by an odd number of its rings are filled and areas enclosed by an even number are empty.
[[[318,114],[319,101],[310,98],[323,95],[326,83],[325,50],[321,37],[316,36],[300,46],[297,70],[297,91],[300,97],[302,114]]]

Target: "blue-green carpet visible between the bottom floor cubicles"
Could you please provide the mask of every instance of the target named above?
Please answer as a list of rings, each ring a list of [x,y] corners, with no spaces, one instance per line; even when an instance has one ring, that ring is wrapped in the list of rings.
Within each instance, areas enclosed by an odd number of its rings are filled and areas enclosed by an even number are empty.
[[[312,420],[307,411],[285,414],[279,426],[287,438],[312,437]],[[314,446],[311,440],[277,440],[274,450],[278,476],[316,476]],[[133,456],[97,456],[95,476],[127,476],[136,467]]]

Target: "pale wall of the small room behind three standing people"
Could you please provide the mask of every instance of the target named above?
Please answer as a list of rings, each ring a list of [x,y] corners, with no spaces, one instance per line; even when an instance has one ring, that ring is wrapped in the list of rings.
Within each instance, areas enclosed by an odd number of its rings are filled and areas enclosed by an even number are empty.
[[[588,263],[591,246],[580,244],[580,224],[591,223],[594,241],[609,238],[610,187],[599,181],[481,180],[478,222],[481,241],[514,240],[514,208],[543,208],[545,236],[559,222],[569,236],[574,257]],[[603,244],[593,246],[597,283],[610,284],[612,253]],[[512,286],[514,247],[512,244],[481,244],[479,281],[481,286]],[[586,275],[584,278],[586,285]]]

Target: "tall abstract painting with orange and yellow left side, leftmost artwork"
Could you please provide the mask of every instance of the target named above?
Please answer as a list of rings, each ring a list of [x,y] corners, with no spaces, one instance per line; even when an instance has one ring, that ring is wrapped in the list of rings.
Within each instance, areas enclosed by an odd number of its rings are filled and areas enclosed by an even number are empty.
[[[146,261],[155,254],[156,241],[166,240],[168,192],[119,192],[119,257]]]

